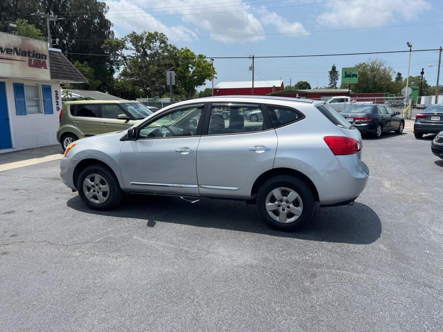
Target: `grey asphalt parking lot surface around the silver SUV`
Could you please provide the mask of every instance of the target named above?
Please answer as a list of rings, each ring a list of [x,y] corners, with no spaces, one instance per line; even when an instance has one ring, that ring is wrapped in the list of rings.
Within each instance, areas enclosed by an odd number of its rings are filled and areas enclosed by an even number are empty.
[[[410,131],[363,144],[365,191],[301,233],[237,201],[95,212],[58,160],[0,172],[0,330],[441,331],[443,160]]]

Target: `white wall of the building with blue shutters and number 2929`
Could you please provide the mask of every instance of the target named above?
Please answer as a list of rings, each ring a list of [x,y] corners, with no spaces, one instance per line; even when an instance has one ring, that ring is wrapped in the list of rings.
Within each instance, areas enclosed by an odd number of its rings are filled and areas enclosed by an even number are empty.
[[[9,125],[11,127],[12,149],[2,149],[0,153],[30,149],[34,147],[45,147],[48,145],[58,144],[56,133],[58,130],[58,117],[55,100],[55,90],[58,91],[59,109],[62,109],[62,98],[60,95],[60,84],[54,82],[44,82],[23,79],[2,79],[6,85],[6,99],[8,101]],[[38,85],[40,92],[40,109],[39,114],[16,114],[16,102],[14,97],[13,83],[23,83],[25,85]],[[52,107],[54,114],[44,114],[43,96],[41,85],[51,85]]]

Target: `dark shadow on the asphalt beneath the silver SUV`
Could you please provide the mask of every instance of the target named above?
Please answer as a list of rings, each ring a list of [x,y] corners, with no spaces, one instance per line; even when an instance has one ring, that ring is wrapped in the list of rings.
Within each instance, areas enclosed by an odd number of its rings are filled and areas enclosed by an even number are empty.
[[[95,211],[76,196],[71,198],[67,205],[77,211],[95,215],[146,220],[149,227],[155,227],[159,222],[174,223],[353,244],[373,243],[381,235],[381,221],[377,213],[361,203],[355,203],[354,206],[320,208],[311,223],[301,232],[280,232],[269,228],[260,219],[255,205],[246,205],[241,201],[127,195],[118,208],[111,211]]]

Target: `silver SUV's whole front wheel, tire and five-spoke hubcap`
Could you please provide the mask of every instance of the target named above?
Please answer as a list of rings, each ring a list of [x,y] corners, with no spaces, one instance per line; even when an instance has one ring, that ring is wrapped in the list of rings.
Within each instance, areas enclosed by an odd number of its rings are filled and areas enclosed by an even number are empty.
[[[86,167],[77,179],[78,195],[83,203],[95,210],[115,208],[123,192],[113,171],[104,165]]]

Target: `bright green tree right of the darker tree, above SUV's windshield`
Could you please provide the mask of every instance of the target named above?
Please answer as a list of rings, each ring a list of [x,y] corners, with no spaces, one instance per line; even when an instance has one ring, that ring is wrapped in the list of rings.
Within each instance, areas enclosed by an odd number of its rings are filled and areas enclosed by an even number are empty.
[[[195,55],[189,48],[184,47],[179,50],[175,79],[179,89],[183,91],[184,99],[194,96],[196,89],[211,79],[211,63],[206,60],[203,54]],[[214,69],[214,77],[216,71]]]

